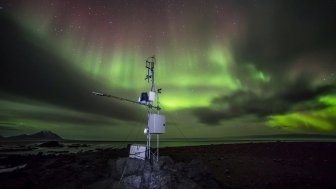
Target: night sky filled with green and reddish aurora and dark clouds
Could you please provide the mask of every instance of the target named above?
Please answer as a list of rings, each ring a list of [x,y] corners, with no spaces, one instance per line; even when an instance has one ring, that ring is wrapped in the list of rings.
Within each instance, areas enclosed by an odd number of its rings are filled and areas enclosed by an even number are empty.
[[[0,135],[142,140],[155,55],[164,138],[336,134],[336,1],[2,0]]]

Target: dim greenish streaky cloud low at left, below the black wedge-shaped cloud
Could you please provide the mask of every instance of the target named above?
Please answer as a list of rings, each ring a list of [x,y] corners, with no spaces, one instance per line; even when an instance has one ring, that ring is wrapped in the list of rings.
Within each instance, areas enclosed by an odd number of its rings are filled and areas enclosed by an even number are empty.
[[[6,125],[37,126],[45,125],[77,125],[77,126],[117,126],[117,119],[111,117],[74,111],[51,104],[19,99],[17,101],[0,100],[0,106],[6,107],[6,112],[0,109],[0,120]]]

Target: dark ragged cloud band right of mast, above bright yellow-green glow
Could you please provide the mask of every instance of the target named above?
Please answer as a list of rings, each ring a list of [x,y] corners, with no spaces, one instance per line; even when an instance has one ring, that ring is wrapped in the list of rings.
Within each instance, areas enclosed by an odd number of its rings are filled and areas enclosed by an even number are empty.
[[[230,96],[216,98],[209,108],[197,108],[193,113],[200,122],[207,125],[216,125],[222,120],[245,115],[255,115],[260,120],[266,120],[270,115],[282,114],[295,108],[320,109],[324,105],[314,102],[314,99],[336,91],[334,85],[313,88],[305,81],[272,90],[273,94],[270,96],[257,95],[251,91],[238,91]]]

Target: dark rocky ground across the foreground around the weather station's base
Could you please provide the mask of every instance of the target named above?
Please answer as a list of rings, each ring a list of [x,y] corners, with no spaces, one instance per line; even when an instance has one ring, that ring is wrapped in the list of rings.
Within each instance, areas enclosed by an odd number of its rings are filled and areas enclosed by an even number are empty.
[[[159,164],[127,149],[0,155],[0,188],[336,188],[336,143],[175,147]],[[20,166],[20,167],[19,167]]]

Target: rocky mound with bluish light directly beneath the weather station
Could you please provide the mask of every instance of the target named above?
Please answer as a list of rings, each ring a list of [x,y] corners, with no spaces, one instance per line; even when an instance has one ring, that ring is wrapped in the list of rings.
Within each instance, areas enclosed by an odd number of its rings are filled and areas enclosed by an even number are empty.
[[[91,188],[221,188],[207,165],[198,159],[175,163],[170,157],[160,157],[159,162],[119,158],[110,159],[108,166],[109,178],[94,183]]]

